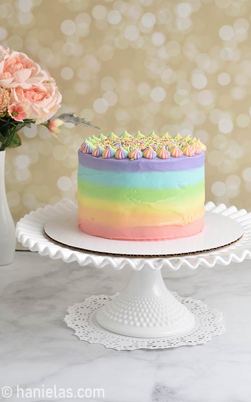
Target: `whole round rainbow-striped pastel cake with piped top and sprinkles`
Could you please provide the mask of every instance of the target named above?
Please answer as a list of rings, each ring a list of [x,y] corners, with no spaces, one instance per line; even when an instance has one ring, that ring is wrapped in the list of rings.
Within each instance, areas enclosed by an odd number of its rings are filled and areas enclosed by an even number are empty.
[[[134,241],[201,232],[205,150],[189,135],[89,137],[78,151],[79,228]]]

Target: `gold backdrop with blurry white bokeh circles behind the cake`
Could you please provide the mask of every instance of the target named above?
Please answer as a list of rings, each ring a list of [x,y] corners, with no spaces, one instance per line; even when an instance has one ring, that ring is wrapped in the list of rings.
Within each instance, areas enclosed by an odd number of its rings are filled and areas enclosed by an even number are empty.
[[[250,0],[2,0],[0,41],[50,71],[103,134],[193,133],[206,199],[251,210]],[[13,217],[76,199],[77,149],[96,130],[35,125],[7,150]]]

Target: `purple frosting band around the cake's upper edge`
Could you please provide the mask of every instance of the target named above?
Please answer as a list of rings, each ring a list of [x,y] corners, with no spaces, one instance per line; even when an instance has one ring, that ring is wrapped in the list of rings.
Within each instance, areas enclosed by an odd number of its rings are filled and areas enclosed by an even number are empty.
[[[182,155],[179,158],[169,157],[168,159],[104,159],[96,158],[89,154],[83,154],[78,151],[78,161],[81,165],[97,170],[122,170],[127,172],[163,172],[170,170],[186,170],[193,169],[204,165],[205,152],[201,152],[193,157]]]

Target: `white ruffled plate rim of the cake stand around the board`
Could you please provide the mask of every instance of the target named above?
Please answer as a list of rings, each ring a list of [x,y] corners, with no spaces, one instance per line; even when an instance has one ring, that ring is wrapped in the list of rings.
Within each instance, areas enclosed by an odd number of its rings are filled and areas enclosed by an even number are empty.
[[[251,213],[247,213],[244,209],[237,210],[234,206],[227,208],[224,204],[215,206],[214,203],[208,202],[205,205],[205,209],[236,220],[244,231],[240,240],[225,248],[206,253],[167,258],[95,255],[73,250],[50,241],[44,233],[45,222],[57,215],[62,215],[63,217],[74,206],[75,204],[71,200],[63,199],[54,206],[47,205],[25,215],[17,224],[16,236],[18,241],[31,251],[38,251],[40,255],[49,256],[52,259],[61,258],[67,263],[77,261],[81,266],[93,264],[96,268],[104,268],[109,265],[117,270],[129,265],[133,270],[137,271],[142,269],[143,266],[149,266],[156,270],[168,267],[176,271],[181,266],[186,266],[189,269],[196,269],[199,265],[212,268],[215,264],[228,265],[230,262],[242,262],[246,258],[251,259]]]

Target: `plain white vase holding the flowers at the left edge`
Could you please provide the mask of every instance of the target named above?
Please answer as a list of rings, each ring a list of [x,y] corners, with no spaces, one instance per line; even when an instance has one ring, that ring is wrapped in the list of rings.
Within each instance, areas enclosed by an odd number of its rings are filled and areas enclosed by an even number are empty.
[[[0,151],[0,265],[10,264],[16,249],[15,224],[5,190],[5,154]]]

